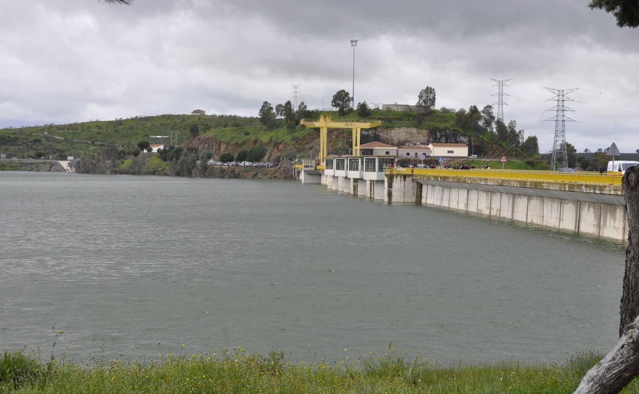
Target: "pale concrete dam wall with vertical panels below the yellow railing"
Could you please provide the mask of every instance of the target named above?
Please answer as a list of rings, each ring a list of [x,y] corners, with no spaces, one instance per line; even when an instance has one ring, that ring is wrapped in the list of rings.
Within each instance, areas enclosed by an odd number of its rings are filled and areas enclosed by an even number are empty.
[[[384,201],[410,202],[614,241],[628,235],[622,195],[387,174]]]

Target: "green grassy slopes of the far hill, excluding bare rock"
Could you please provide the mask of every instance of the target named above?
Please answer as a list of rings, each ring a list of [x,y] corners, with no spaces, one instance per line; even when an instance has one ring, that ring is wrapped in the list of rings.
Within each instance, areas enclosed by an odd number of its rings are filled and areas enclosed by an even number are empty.
[[[339,118],[337,112],[330,112]],[[319,113],[311,113],[311,117]],[[371,119],[382,119],[381,128],[418,127],[447,128],[459,130],[455,125],[455,114],[434,111],[425,116],[417,125],[413,112],[392,112],[373,110]],[[346,119],[358,119],[357,112],[346,114]],[[316,139],[315,130],[297,126],[295,130],[286,130],[284,119],[277,119],[273,130],[259,123],[256,117],[242,116],[193,116],[160,115],[116,119],[112,121],[91,121],[69,125],[29,126],[24,128],[0,129],[0,153],[8,157],[39,157],[49,155],[55,158],[81,156],[84,153],[105,145],[116,145],[124,149],[134,149],[137,142],[148,140],[149,135],[169,135],[170,131],[179,132],[178,145],[190,141],[189,126],[196,122],[201,130],[200,139],[212,139],[233,149],[256,144],[272,149],[275,146],[292,146],[299,153],[310,153],[310,147],[298,146],[297,142]],[[338,133],[339,134],[339,133]],[[345,135],[344,135],[345,136]],[[335,135],[339,140],[340,135]]]

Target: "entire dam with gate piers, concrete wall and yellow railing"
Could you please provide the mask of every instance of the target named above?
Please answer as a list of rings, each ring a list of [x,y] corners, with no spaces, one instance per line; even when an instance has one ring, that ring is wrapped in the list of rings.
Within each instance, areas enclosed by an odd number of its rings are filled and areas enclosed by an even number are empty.
[[[621,176],[595,172],[414,169],[390,156],[336,156],[296,167],[302,183],[393,203],[462,211],[599,239],[627,239]]]

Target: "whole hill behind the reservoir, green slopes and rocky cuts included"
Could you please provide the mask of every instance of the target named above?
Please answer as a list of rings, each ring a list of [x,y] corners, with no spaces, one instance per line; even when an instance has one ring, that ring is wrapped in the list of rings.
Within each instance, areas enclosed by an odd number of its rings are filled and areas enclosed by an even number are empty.
[[[305,117],[319,117],[319,111],[307,111]],[[327,113],[322,112],[322,113]],[[328,111],[334,119],[360,119],[357,111],[344,117]],[[494,135],[488,132],[466,130],[458,126],[454,112],[433,110],[424,116],[415,112],[371,110],[369,119],[381,119],[379,128],[362,130],[362,143],[380,140],[398,146],[427,144],[428,142],[465,142],[479,152],[494,158],[507,148],[492,142]],[[189,127],[199,126],[200,135],[193,139]],[[158,115],[90,121],[68,125],[43,125],[0,130],[0,153],[8,158],[80,157],[95,153],[109,146],[119,149],[121,156],[139,151],[137,144],[148,141],[150,135],[169,135],[178,132],[178,146],[208,151],[213,158],[224,152],[233,155],[242,149],[261,146],[266,149],[265,160],[278,161],[286,151],[293,151],[298,158],[317,155],[319,133],[317,130],[297,125],[288,130],[284,119],[277,119],[275,127],[268,130],[257,117],[226,115]],[[328,151],[334,154],[350,153],[350,130],[330,130]],[[168,145],[168,139],[164,141]],[[290,155],[289,155],[290,156]],[[518,152],[518,156],[524,156]],[[539,168],[532,163],[526,168]]]

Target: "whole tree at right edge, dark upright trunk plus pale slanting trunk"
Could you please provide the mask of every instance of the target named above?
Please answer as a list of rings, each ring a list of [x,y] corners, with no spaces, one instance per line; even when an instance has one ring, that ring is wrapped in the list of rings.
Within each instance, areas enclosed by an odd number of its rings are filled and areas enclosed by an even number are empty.
[[[603,360],[590,368],[574,394],[616,394],[639,374],[639,166],[628,169],[622,183],[629,229],[621,338]]]

